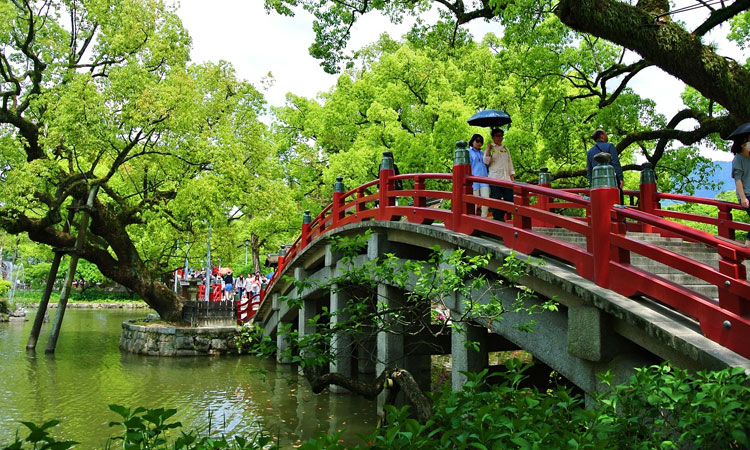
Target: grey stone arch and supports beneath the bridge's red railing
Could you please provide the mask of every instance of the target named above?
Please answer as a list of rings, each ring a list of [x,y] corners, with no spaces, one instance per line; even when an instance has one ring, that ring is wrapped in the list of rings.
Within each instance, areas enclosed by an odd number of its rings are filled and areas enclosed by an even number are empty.
[[[497,278],[497,270],[511,250],[497,239],[461,235],[442,227],[408,222],[370,221],[339,227],[307,246],[290,261],[285,275],[297,281],[322,282],[345,270],[341,255],[333,250],[327,237],[353,236],[370,230],[366,252],[358,255],[352,265],[361,266],[385,254],[400,260],[424,260],[433,246],[442,251],[462,248],[468,255],[489,255],[488,277]],[[475,319],[447,333],[416,336],[380,331],[374,339],[352,339],[336,336],[331,343],[336,356],[330,372],[346,376],[375,377],[386,367],[409,370],[423,389],[430,387],[432,355],[450,355],[452,386],[460,389],[466,381],[463,372],[477,372],[488,367],[488,354],[496,351],[523,349],[534,360],[549,367],[586,393],[604,389],[597,374],[610,371],[615,382],[624,382],[635,368],[669,360],[672,364],[692,370],[721,369],[741,366],[750,369],[750,361],[708,340],[691,319],[665,306],[644,298],[626,298],[603,289],[578,276],[575,269],[552,258],[535,258],[516,254],[529,264],[528,273],[520,280],[535,298],[525,300],[526,307],[537,307],[547,299],[558,302],[556,311],[507,312],[491,322]],[[408,285],[408,283],[407,283]],[[315,332],[315,326],[331,326],[340,320],[343,305],[353,294],[345,287],[334,286],[330,292],[310,283],[301,288],[299,308],[290,308],[280,301],[291,295],[294,283],[279,280],[272,286],[267,300],[256,316],[269,336],[276,336],[278,361],[284,358],[288,343],[285,330],[296,330],[300,336]],[[396,286],[377,286],[378,307],[388,309],[402,305],[407,292]],[[510,308],[519,288],[507,284],[473,294],[474,301],[487,304],[493,297]],[[270,300],[270,301],[269,301]],[[466,303],[458,295],[446,302],[454,317],[465,312]],[[310,319],[324,309],[332,313],[331,323],[312,325]],[[423,314],[429,317],[430,311]],[[533,320],[533,331],[524,331],[524,324]],[[372,324],[362,324],[372,330]],[[368,328],[369,327],[369,328]],[[365,333],[366,334],[366,333]],[[467,346],[476,343],[479,351]],[[304,357],[304,355],[301,355]],[[338,387],[333,392],[343,392]],[[382,405],[382,395],[379,404]]]

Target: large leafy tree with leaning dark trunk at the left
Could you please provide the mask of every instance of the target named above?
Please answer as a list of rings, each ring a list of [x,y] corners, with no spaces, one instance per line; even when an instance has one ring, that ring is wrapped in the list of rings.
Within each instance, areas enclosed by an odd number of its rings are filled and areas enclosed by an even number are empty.
[[[262,96],[225,62],[189,65],[159,0],[5,1],[0,16],[0,228],[70,252],[67,209],[98,186],[80,256],[178,320],[159,281],[181,265],[175,240],[286,195],[268,181]]]

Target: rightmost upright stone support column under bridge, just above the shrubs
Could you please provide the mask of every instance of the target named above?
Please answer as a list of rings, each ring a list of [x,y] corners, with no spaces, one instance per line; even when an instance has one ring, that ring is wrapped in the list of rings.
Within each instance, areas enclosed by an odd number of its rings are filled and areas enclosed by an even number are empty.
[[[469,343],[479,344],[479,351]],[[462,324],[451,329],[451,381],[454,391],[460,391],[466,383],[461,372],[479,372],[489,363],[487,354],[487,328]]]

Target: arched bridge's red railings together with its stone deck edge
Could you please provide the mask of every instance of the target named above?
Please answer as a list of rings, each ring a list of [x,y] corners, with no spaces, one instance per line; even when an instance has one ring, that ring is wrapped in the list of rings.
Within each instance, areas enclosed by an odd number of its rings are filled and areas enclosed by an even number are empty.
[[[592,362],[593,371],[606,368],[598,362],[612,353],[612,341],[605,336],[611,333],[616,340],[636,342],[656,359],[690,360],[685,365],[695,368],[750,368],[750,283],[743,264],[750,249],[733,240],[736,231],[750,231],[750,225],[733,219],[739,205],[657,192],[649,165],[641,172],[640,189],[624,192],[627,206],[618,204],[614,187],[553,189],[546,171],[538,185],[472,176],[463,149],[456,151],[453,173],[395,175],[392,168],[392,159],[384,158],[379,179],[348,191],[338,178],[333,202],[314,218],[305,215],[301,235],[279,258],[274,278],[261,294],[255,322],[268,334],[297,319],[304,332],[304,307],[289,311],[275,300],[291,289],[282,276],[310,275],[335,265],[324,238],[371,228],[380,233],[380,241],[395,244],[424,241],[429,247],[438,242],[496,253],[497,258],[510,251],[546,258],[549,263],[533,269],[528,286],[561,299],[567,314],[559,319],[567,321],[560,324],[564,339],[548,335],[542,339],[546,343],[522,345],[526,338],[516,339],[511,332],[504,338],[548,364],[560,358],[552,353],[567,351],[577,363],[550,364],[566,376],[578,370],[574,366],[581,360]],[[398,180],[405,189],[395,189]],[[474,196],[474,182],[513,189],[513,202]],[[713,207],[718,217],[662,209],[664,200]],[[477,214],[481,206],[512,218],[483,218]],[[706,224],[716,232],[676,220]],[[371,243],[368,252],[385,248],[382,242]],[[555,320],[550,316],[550,323]],[[597,327],[593,334],[581,330]],[[575,336],[585,342],[571,343]],[[472,367],[467,364],[464,369]],[[577,384],[588,391],[593,381],[586,380]]]

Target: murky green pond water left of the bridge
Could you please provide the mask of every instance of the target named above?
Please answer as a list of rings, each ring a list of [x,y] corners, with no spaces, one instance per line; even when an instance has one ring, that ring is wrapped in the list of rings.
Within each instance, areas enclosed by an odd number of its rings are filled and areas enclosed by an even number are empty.
[[[292,448],[317,432],[345,429],[345,442],[374,424],[375,406],[359,397],[313,394],[293,366],[252,356],[160,358],[120,352],[121,324],[144,310],[70,309],[54,355],[46,355],[45,324],[34,353],[26,352],[33,322],[0,323],[0,448],[13,441],[20,421],[59,419],[55,435],[102,448],[120,428],[109,404],[177,408],[186,429],[226,436],[262,427]],[[51,310],[54,316],[54,310]]]

